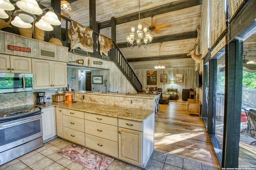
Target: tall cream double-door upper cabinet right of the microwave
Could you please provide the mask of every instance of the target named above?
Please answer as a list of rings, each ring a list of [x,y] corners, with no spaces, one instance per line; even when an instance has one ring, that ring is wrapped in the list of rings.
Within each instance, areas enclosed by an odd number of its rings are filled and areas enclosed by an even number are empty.
[[[67,63],[32,59],[34,89],[62,88],[67,86]]]

